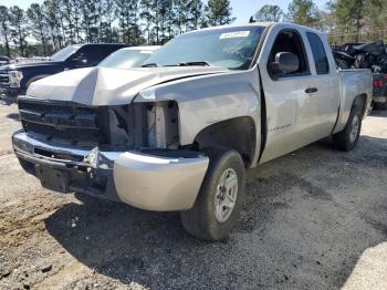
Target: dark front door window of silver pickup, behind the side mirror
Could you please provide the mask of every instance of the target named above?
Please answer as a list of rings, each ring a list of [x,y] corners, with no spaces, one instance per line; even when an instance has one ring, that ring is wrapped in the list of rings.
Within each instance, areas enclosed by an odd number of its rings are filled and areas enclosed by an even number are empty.
[[[297,32],[283,31],[276,37],[273,48],[270,52],[269,63],[272,63],[275,60],[275,54],[279,52],[291,52],[299,56],[299,71],[287,73],[286,75],[296,76],[310,74],[304,42]]]

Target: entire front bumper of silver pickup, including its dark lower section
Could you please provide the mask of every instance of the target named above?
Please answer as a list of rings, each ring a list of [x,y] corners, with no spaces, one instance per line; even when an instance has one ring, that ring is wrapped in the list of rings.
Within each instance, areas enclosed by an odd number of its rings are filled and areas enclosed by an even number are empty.
[[[43,143],[23,132],[15,133],[12,143],[23,168],[39,177],[44,187],[91,194],[155,211],[190,209],[209,165],[208,157],[184,157],[186,154],[179,151],[174,153],[178,157],[83,151]],[[43,177],[43,172],[49,174]]]

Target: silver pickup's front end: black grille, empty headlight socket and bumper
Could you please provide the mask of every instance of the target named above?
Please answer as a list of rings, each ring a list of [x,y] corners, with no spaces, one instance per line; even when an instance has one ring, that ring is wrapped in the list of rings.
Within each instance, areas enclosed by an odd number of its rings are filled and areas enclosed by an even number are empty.
[[[19,99],[23,168],[55,191],[79,191],[150,210],[194,206],[208,158],[179,145],[172,101],[85,106]]]

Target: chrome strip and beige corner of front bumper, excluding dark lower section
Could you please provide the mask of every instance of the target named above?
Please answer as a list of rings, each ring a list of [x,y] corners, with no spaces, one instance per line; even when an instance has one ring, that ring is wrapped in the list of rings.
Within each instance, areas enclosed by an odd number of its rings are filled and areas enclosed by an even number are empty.
[[[60,167],[71,164],[108,169],[113,172],[118,200],[137,208],[157,211],[190,209],[195,205],[209,165],[209,158],[206,156],[167,158],[138,152],[101,152],[97,147],[92,151],[76,149],[40,142],[24,132],[15,133],[12,141],[17,156],[33,164],[46,163],[49,166]],[[35,148],[80,156],[82,162],[50,158],[35,154]]]

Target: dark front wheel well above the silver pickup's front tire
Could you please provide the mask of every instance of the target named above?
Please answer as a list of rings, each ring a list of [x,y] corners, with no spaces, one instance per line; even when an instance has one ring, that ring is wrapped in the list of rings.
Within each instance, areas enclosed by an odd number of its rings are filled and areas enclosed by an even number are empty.
[[[252,117],[226,120],[203,128],[195,138],[198,151],[208,147],[227,147],[237,151],[245,167],[253,163],[257,128]]]

